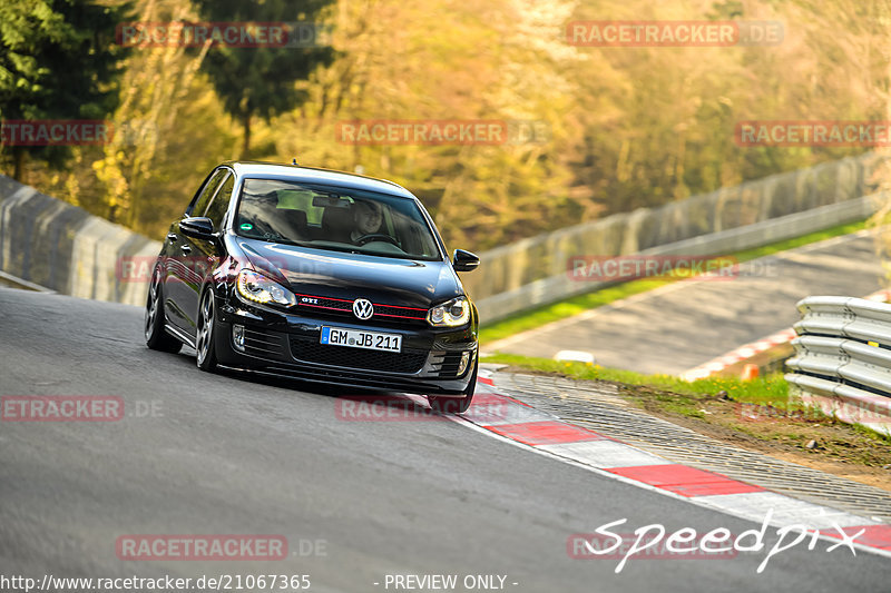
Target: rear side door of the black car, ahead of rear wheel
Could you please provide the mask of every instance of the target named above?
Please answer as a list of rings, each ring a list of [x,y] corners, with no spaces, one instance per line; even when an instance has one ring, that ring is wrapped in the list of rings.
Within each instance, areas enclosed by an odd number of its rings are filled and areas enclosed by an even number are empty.
[[[212,171],[200,189],[195,194],[195,197],[192,198],[183,218],[203,216],[216,190],[219,189],[228,174],[228,169],[223,167]],[[173,325],[192,336],[195,333],[195,316],[189,313],[193,300],[192,295],[194,295],[196,284],[193,257],[194,246],[192,240],[179,230],[179,221],[170,226],[166,237],[165,250],[167,253],[164,263],[165,313]]]

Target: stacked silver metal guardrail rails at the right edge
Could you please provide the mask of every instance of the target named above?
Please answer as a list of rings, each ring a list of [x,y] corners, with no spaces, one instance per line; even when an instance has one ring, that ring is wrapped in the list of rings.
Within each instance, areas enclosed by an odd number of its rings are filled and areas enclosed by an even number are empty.
[[[891,436],[891,305],[812,296],[797,304],[785,378],[802,402]]]

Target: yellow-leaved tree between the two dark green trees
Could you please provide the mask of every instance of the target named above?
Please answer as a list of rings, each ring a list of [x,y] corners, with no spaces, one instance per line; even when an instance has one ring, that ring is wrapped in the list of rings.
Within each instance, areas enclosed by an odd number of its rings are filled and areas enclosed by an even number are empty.
[[[137,13],[138,22],[196,18],[194,8],[179,0],[143,0]],[[218,126],[225,115],[209,83],[198,76],[208,50],[203,47],[194,55],[182,45],[167,45],[133,52],[115,113],[129,134],[115,135],[101,158],[92,161],[98,191],[84,196],[81,206],[140,231],[159,216],[166,229],[165,217],[182,208],[183,198],[180,191],[158,187],[159,178],[203,178],[234,140]],[[193,146],[180,149],[184,145]],[[196,158],[183,158],[180,150]]]

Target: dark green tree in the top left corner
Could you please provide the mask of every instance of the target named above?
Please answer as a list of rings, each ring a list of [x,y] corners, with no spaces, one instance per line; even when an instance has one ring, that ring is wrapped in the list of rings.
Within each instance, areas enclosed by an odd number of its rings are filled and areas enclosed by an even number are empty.
[[[94,0],[3,0],[0,3],[0,119],[102,119],[118,102],[120,61],[114,43],[129,3]],[[7,146],[13,177],[27,155],[59,168],[69,146]]]

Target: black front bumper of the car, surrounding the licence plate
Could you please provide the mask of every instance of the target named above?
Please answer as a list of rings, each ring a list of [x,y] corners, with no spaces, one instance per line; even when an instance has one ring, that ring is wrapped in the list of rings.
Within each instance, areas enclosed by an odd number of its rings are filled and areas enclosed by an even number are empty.
[[[239,299],[218,303],[214,345],[225,366],[346,387],[459,395],[467,389],[476,364],[477,332],[472,324],[458,329],[370,325],[278,312]],[[234,325],[244,328],[243,349],[234,344]],[[402,352],[322,345],[322,326],[398,333],[402,335]]]

